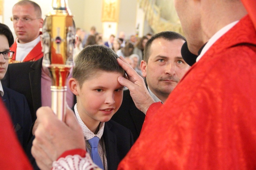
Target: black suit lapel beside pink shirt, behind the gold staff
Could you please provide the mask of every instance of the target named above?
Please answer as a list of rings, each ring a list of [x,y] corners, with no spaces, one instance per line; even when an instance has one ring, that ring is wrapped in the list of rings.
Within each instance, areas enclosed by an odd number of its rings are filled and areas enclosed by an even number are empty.
[[[43,61],[43,58],[35,61],[31,65],[31,67],[30,67],[31,71],[29,72],[29,82],[30,82],[30,88],[31,88],[31,93],[32,93],[34,112],[36,112],[37,109],[42,106],[42,101],[41,101],[42,61]]]

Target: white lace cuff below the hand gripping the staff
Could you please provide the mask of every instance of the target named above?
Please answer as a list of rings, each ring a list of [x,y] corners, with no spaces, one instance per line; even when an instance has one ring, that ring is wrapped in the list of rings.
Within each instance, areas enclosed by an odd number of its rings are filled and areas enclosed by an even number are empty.
[[[82,158],[80,155],[68,155],[53,162],[53,170],[96,170],[100,169],[86,153]]]

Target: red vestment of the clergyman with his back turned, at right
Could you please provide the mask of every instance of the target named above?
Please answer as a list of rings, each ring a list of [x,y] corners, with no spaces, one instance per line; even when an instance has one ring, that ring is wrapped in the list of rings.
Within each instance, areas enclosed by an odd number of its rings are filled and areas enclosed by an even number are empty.
[[[255,169],[255,87],[256,31],[246,16],[148,110],[118,169]]]

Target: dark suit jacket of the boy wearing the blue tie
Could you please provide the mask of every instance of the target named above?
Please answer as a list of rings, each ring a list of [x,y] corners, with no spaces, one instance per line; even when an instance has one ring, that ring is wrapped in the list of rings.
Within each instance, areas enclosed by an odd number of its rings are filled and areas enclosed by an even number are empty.
[[[74,107],[72,108],[74,111]],[[106,159],[108,161],[108,170],[116,170],[119,162],[125,157],[133,145],[132,133],[126,127],[116,123],[113,120],[105,122],[103,139],[105,142]],[[27,154],[34,169],[38,169],[30,151],[34,136],[29,142]]]

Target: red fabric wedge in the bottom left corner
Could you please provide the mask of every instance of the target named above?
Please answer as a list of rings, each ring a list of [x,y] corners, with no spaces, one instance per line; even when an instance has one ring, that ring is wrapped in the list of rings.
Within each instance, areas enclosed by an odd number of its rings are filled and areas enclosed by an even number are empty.
[[[10,116],[0,99],[0,167],[1,169],[32,169],[13,130]]]

